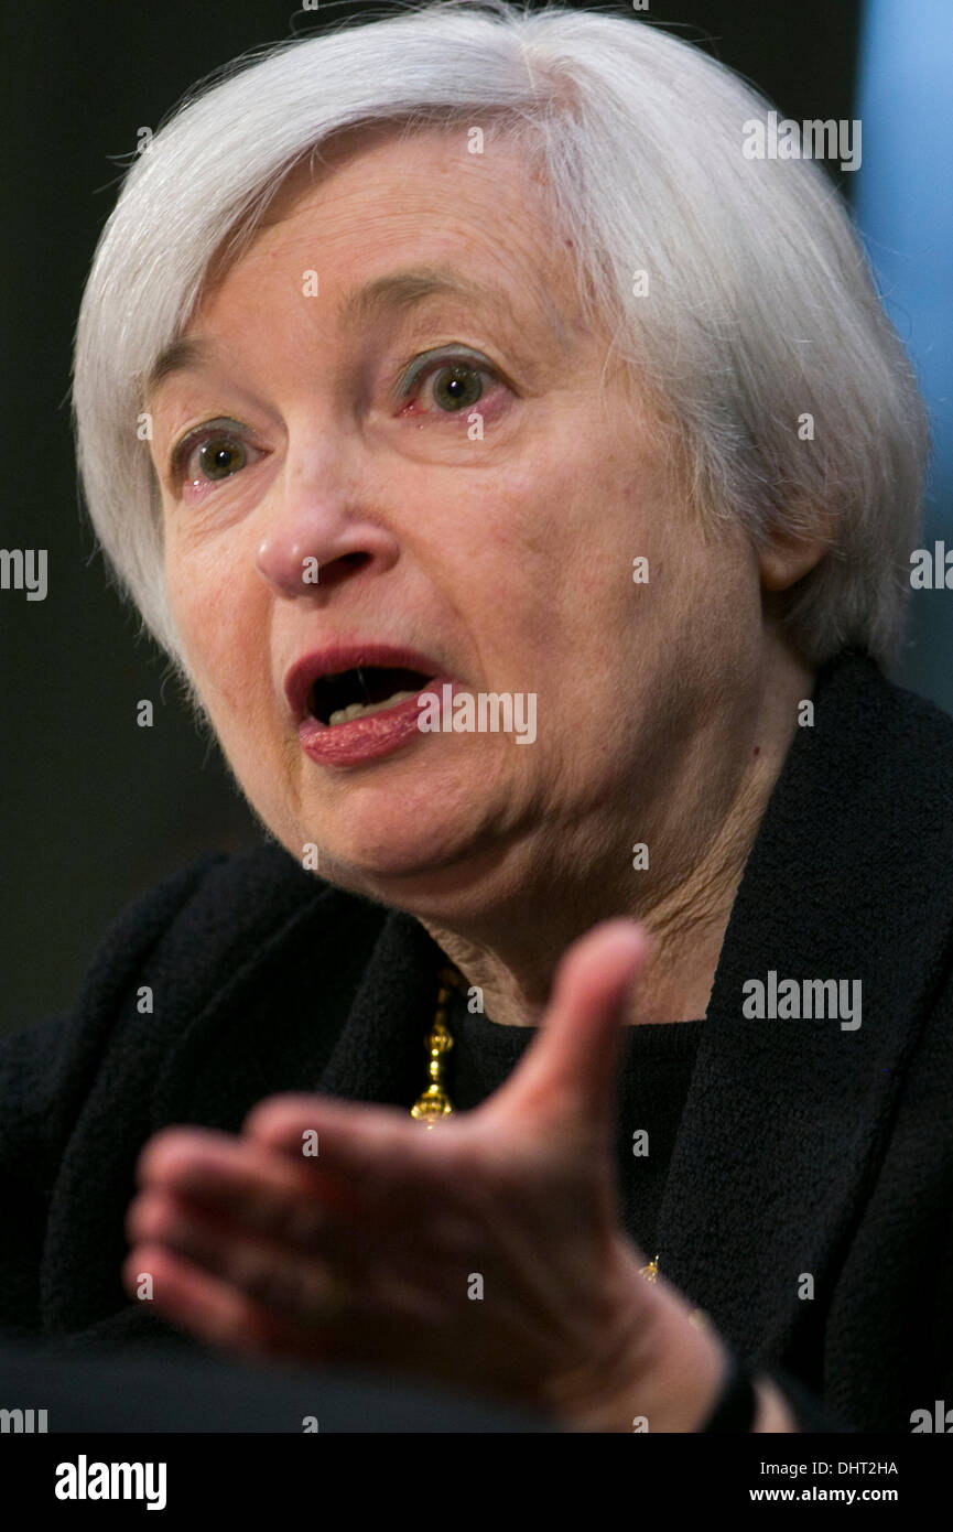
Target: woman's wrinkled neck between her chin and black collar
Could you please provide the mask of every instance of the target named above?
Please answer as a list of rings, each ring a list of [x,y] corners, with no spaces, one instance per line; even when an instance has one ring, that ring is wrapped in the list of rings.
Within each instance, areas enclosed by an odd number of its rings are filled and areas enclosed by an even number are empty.
[[[745,863],[797,732],[797,705],[812,689],[811,668],[781,650],[746,737],[735,741],[737,769],[726,774],[729,791],[714,801],[711,781],[719,774],[702,771],[697,792],[679,795],[656,815],[651,855],[657,864],[677,869],[668,882],[657,875],[650,881],[648,870],[631,870],[631,858],[622,858],[619,875],[619,846],[633,840],[627,812],[625,829],[616,821],[601,856],[590,850],[581,858],[576,844],[558,870],[550,859],[541,876],[513,879],[509,896],[466,925],[447,927],[418,916],[467,985],[480,987],[490,1020],[503,1026],[539,1025],[565,948],[599,921],[619,915],[642,921],[651,936],[650,962],[631,996],[628,1025],[706,1014]],[[666,836],[673,826],[686,824],[691,836],[682,835],[680,843]],[[694,856],[685,852],[686,840]]]

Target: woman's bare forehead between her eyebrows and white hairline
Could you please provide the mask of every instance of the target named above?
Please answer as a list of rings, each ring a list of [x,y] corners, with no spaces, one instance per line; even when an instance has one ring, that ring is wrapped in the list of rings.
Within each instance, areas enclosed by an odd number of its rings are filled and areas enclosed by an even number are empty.
[[[346,317],[369,322],[389,300],[454,297],[538,323],[567,343],[579,328],[568,236],[527,150],[487,133],[483,153],[466,127],[349,129],[313,152],[271,192],[254,227],[222,245],[204,306],[227,290],[277,280],[305,262]],[[441,273],[418,291],[400,268]],[[391,277],[397,274],[395,280]]]

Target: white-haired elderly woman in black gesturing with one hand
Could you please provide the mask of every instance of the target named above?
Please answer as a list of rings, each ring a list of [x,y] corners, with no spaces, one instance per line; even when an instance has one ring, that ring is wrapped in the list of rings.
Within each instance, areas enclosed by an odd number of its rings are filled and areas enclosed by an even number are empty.
[[[9,1331],[582,1431],[953,1397],[953,725],[886,676],[924,412],[765,109],[636,18],[440,3],[129,173],[84,490],[267,836],[6,1042]]]

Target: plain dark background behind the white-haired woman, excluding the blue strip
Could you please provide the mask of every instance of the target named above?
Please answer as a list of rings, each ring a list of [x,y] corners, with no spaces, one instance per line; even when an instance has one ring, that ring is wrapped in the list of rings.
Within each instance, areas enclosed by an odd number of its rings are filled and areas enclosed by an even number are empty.
[[[138,129],[158,127],[192,84],[247,49],[369,9],[60,0],[0,12],[0,545],[49,548],[46,601],[0,591],[0,1028],[69,1005],[103,928],[139,890],[202,850],[260,838],[164,657],[136,642],[135,613],[106,584],[74,469],[72,336]],[[858,115],[858,12],[853,0],[651,3],[654,21],[676,25],[798,121]],[[155,703],[152,729],[135,723],[144,697]]]

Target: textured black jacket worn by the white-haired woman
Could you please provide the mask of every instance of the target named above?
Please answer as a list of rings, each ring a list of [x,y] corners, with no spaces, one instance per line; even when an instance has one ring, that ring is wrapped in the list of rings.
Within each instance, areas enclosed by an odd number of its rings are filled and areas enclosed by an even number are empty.
[[[953,720],[855,651],[815,708],[734,902],[657,1247],[804,1429],[907,1432],[953,1405]],[[279,1091],[409,1108],[440,961],[271,843],[141,898],[75,1010],[0,1045],[0,1325],[175,1339],[120,1284],[142,1143]],[[745,1019],[771,970],[860,979],[860,1028]]]

